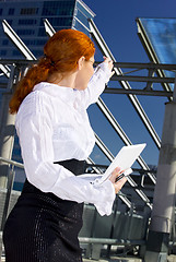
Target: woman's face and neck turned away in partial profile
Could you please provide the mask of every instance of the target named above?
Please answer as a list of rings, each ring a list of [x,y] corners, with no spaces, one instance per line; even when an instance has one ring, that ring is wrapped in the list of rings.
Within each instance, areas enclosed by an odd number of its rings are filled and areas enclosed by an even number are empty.
[[[87,84],[94,73],[94,56],[90,58],[90,60],[83,60],[82,67],[79,70],[77,78],[75,78],[75,90],[85,90]]]

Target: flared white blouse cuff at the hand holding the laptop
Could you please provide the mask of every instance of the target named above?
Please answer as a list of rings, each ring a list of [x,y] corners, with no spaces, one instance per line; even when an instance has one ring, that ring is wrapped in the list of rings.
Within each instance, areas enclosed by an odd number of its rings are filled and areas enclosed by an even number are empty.
[[[115,189],[110,180],[106,180],[98,187],[101,191],[101,199],[94,202],[94,205],[99,215],[110,215],[113,212],[113,204],[116,198]]]

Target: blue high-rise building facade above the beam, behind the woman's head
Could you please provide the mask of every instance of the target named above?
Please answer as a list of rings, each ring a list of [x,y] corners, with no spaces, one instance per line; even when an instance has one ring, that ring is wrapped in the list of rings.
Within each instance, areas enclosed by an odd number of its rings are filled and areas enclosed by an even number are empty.
[[[87,19],[95,14],[81,0],[3,0],[0,1],[0,20],[5,20],[36,58],[43,56],[47,41],[44,19],[55,31],[75,28],[89,34]],[[0,24],[0,58],[23,59],[20,50],[3,33]]]

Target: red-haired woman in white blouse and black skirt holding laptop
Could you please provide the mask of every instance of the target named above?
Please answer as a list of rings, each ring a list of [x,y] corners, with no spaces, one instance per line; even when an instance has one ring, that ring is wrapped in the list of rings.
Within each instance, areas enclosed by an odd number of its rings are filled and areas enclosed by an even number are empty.
[[[108,58],[93,69],[95,48],[83,33],[57,32],[44,58],[21,80],[10,102],[16,115],[26,181],[7,221],[7,262],[78,262],[83,202],[101,215],[112,213],[126,179],[94,186],[77,177],[95,143],[86,108],[112,76]]]

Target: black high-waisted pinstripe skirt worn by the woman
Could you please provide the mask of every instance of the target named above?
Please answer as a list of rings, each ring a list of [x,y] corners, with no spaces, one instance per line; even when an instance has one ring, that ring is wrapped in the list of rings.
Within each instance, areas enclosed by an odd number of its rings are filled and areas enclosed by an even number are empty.
[[[56,164],[84,172],[85,162]],[[4,226],[5,262],[81,262],[82,212],[82,203],[44,193],[26,180]]]

